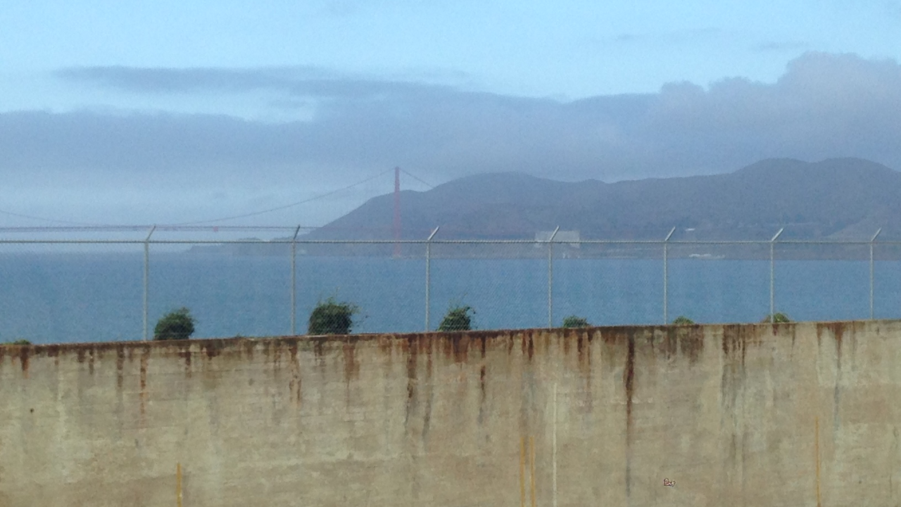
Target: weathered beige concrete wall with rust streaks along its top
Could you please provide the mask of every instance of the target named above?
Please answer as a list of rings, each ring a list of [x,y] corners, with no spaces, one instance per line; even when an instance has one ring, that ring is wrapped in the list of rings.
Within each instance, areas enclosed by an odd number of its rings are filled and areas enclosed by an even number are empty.
[[[896,321],[7,346],[0,401],[3,507],[901,502]]]

